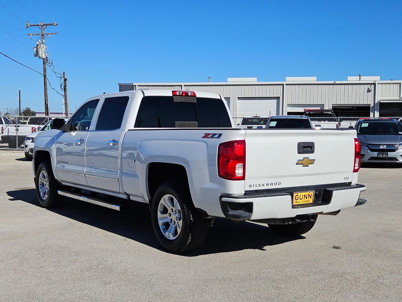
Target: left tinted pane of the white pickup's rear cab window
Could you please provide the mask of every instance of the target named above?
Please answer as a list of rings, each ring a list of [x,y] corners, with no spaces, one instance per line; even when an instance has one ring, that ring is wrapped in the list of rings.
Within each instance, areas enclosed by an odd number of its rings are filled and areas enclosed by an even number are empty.
[[[143,97],[139,105],[135,128],[174,128],[173,96]]]

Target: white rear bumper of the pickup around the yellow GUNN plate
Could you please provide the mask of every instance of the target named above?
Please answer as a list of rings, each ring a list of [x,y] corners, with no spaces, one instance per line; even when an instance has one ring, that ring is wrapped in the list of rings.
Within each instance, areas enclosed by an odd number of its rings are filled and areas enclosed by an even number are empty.
[[[341,209],[363,205],[359,199],[365,186],[333,186],[326,188],[328,202],[315,203],[303,207],[292,207],[292,196],[289,192],[259,192],[240,196],[222,195],[220,204],[226,218],[234,220],[258,220],[269,218],[290,218],[311,213],[331,213]]]

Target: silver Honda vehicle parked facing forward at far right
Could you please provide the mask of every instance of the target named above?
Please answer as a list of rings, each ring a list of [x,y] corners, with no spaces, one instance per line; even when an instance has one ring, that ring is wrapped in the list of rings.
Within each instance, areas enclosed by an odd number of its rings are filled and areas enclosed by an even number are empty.
[[[402,124],[393,118],[363,119],[356,123],[361,162],[402,163]]]

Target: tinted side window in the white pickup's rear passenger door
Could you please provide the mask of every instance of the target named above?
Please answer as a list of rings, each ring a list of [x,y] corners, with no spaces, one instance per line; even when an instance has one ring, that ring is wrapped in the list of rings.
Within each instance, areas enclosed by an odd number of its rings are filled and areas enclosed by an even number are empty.
[[[116,130],[121,127],[129,97],[108,97],[100,110],[95,130]]]

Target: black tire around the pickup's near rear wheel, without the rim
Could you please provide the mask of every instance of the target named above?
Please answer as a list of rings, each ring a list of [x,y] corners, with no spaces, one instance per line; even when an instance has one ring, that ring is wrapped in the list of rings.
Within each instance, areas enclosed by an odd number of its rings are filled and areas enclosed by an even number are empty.
[[[167,194],[177,200],[181,209],[182,227],[174,239],[166,238],[158,223],[159,202]],[[189,187],[182,180],[170,180],[159,186],[152,200],[151,217],[156,239],[166,250],[174,254],[195,250],[203,244],[207,236],[208,219],[201,217],[195,211]]]

